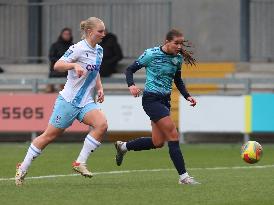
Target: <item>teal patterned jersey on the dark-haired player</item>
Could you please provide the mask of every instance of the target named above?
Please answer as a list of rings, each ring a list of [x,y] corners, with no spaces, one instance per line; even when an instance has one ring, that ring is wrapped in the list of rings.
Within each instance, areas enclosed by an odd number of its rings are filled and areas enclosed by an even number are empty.
[[[172,90],[173,78],[176,71],[181,70],[183,57],[154,47],[145,50],[137,62],[146,68],[145,91],[166,94]]]

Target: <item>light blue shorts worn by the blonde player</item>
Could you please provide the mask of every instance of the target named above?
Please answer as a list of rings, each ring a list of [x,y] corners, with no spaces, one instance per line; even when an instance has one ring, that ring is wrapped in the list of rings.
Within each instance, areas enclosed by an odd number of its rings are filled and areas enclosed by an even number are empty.
[[[56,128],[68,128],[75,119],[83,121],[85,114],[91,110],[99,110],[100,107],[96,103],[89,103],[84,107],[76,107],[67,102],[61,95],[58,95],[49,123]]]

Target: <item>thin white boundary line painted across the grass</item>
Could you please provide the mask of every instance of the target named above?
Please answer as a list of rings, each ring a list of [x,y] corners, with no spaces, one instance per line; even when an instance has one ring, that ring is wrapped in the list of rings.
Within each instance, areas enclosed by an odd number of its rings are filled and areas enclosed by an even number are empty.
[[[274,168],[274,164],[262,165],[262,166],[189,168],[188,170],[233,170],[233,169],[265,169],[265,168]],[[126,174],[126,173],[134,173],[134,172],[164,172],[164,171],[175,171],[175,169],[137,169],[137,170],[124,170],[124,171],[94,172],[93,175]],[[79,174],[36,176],[36,177],[26,177],[26,179],[46,179],[46,178],[74,177],[74,176],[79,176]],[[11,180],[14,180],[14,177],[0,178],[0,181],[11,181]]]

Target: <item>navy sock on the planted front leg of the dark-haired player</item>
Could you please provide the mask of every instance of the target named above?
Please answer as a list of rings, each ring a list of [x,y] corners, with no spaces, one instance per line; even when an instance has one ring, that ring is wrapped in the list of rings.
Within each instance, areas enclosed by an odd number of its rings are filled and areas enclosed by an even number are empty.
[[[179,146],[179,141],[168,142],[169,155],[179,175],[186,173],[185,161]]]

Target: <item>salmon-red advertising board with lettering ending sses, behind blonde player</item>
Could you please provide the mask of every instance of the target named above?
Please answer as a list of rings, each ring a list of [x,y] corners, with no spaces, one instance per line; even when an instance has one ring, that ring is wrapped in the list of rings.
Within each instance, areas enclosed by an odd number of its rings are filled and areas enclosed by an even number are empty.
[[[0,131],[38,132],[47,127],[57,94],[0,94]],[[89,127],[74,121],[68,131],[84,132]]]

